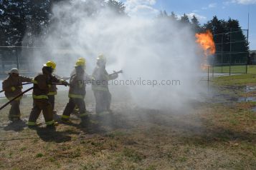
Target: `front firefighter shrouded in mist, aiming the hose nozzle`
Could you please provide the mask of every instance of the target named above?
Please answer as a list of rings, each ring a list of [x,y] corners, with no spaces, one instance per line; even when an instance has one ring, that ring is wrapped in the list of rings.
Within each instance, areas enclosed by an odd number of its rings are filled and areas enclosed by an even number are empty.
[[[97,66],[93,71],[92,89],[96,100],[96,114],[111,113],[111,94],[108,90],[108,81],[117,79],[118,74],[108,74],[105,70],[106,59],[100,54],[97,58]]]

